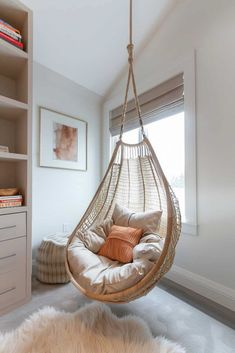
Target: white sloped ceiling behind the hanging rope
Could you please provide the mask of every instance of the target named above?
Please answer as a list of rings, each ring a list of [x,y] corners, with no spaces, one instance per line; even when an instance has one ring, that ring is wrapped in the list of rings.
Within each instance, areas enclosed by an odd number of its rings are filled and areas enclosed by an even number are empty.
[[[22,0],[34,11],[34,60],[105,96],[127,62],[129,0]],[[141,50],[177,0],[134,0]]]

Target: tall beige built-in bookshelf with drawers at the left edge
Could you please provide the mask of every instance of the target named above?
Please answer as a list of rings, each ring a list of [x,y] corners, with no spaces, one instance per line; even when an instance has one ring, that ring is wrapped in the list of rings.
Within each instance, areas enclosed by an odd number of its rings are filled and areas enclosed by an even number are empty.
[[[18,188],[22,207],[0,209],[0,314],[31,295],[32,13],[0,0],[0,19],[22,34],[23,50],[0,38],[0,189]],[[7,266],[9,269],[6,274]]]

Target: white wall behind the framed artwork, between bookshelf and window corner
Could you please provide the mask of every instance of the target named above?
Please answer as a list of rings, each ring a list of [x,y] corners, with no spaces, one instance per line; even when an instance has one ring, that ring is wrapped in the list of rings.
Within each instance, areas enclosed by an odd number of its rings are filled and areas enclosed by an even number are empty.
[[[88,122],[87,172],[39,167],[39,106]],[[43,236],[75,227],[100,181],[101,97],[34,63],[33,249]]]

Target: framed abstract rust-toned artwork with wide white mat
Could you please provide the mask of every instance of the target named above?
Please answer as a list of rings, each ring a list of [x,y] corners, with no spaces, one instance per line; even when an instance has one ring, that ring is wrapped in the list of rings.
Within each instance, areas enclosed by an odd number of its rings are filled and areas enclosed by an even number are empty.
[[[87,170],[87,123],[40,107],[40,166]]]

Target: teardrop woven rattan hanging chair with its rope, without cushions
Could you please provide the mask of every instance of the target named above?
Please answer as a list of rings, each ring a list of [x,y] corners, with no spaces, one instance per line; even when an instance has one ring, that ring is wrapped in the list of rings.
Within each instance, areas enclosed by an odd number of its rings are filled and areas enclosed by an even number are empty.
[[[104,302],[129,302],[147,294],[160,278],[169,271],[174,260],[175,246],[181,231],[178,201],[144,133],[133,72],[133,47],[132,0],[130,0],[130,44],[127,47],[129,73],[123,105],[120,138],[105,176],[80,223],[70,236],[66,248],[66,268],[71,282],[87,297]],[[140,143],[133,145],[124,143],[122,140],[130,83],[133,86],[136,110],[143,137]],[[92,287],[89,290],[85,289],[76,281],[73,275],[74,269],[70,264],[69,250],[76,242],[78,232],[84,232],[111,217],[116,203],[127,207],[133,212],[161,210],[159,235],[164,238],[164,247],[151,270],[134,286],[116,293],[96,294],[92,291]]]

